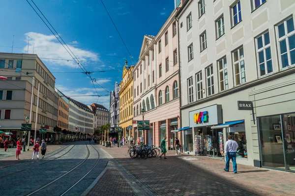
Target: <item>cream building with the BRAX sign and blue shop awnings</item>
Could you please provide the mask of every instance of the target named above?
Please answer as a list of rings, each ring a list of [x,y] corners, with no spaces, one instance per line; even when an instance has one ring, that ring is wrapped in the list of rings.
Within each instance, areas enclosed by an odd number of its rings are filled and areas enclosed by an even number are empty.
[[[295,170],[294,16],[294,0],[185,1],[184,151],[221,155],[232,135],[238,163]]]

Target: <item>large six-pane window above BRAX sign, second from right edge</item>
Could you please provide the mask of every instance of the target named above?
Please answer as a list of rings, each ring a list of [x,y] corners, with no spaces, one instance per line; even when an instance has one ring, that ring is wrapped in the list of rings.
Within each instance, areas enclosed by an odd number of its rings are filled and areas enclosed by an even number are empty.
[[[269,32],[260,35],[256,38],[257,61],[259,75],[263,76],[272,72],[272,61],[270,51]]]

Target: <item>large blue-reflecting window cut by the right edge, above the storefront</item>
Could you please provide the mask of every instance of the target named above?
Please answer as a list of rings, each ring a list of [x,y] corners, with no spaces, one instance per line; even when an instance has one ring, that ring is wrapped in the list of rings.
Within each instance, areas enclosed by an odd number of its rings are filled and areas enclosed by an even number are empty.
[[[276,26],[282,68],[295,64],[295,30],[293,17]]]

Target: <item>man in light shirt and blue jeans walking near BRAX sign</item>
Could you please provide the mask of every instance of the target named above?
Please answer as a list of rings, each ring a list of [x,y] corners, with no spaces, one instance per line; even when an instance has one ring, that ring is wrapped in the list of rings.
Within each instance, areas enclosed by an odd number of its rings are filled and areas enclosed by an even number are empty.
[[[236,169],[236,148],[237,148],[237,143],[235,140],[233,140],[233,136],[229,135],[228,136],[228,141],[225,143],[224,146],[224,154],[226,157],[226,162],[225,162],[225,169],[223,169],[226,172],[229,172],[230,170],[230,161],[232,159],[233,161],[233,168],[234,168],[234,173],[237,173]]]

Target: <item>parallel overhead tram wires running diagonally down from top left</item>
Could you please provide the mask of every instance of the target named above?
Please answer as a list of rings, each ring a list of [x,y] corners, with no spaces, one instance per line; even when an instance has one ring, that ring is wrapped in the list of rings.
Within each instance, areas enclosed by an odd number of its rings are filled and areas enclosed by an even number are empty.
[[[64,43],[64,45],[72,52],[72,50],[67,46],[67,44],[63,41],[63,39],[60,37],[59,33],[55,30],[55,28],[50,24],[50,22],[47,20],[47,18],[44,16],[44,14],[41,12],[41,10],[38,8],[38,6],[34,3],[33,0],[31,0],[33,2],[33,4],[36,6],[36,8],[39,10],[39,12],[42,14],[42,16],[45,18],[45,20],[49,23],[49,25],[54,29],[54,31],[58,34],[59,38],[62,40],[62,42]],[[27,0],[27,2],[29,3],[29,1]],[[93,80],[95,78],[92,78],[90,73],[87,71],[87,69],[83,66],[83,64],[79,61],[79,59],[76,57],[76,55],[72,52],[72,54],[75,56],[75,59],[73,57],[73,55],[65,48],[65,46],[61,43],[61,41],[59,40],[59,38],[57,37],[57,35],[53,32],[53,30],[45,23],[45,21],[42,19],[42,17],[38,14],[38,12],[33,8],[33,6],[29,3],[29,5],[31,6],[31,8],[36,12],[36,14],[39,16],[39,18],[43,21],[43,23],[48,27],[48,29],[54,34],[54,36],[58,39],[59,43],[63,46],[63,48],[70,54],[70,56],[74,59],[74,61],[77,63],[77,65],[82,69],[82,71],[89,76],[89,78],[91,79],[91,81],[93,82]],[[78,61],[78,62],[77,62]],[[82,68],[82,67],[83,68]],[[95,79],[95,83],[96,79]],[[98,83],[97,83],[98,84]],[[98,84],[100,87],[102,87],[100,84]],[[104,87],[102,87],[104,90],[106,90]],[[108,93],[110,93],[108,90],[106,90]],[[98,95],[98,94],[97,94]],[[99,96],[99,95],[98,95]]]

